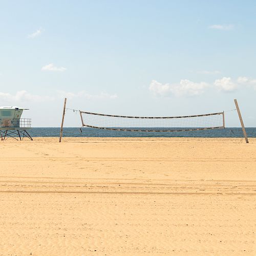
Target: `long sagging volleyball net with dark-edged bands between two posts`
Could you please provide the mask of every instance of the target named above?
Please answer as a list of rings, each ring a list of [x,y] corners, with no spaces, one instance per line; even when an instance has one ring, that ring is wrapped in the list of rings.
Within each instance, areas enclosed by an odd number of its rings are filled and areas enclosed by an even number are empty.
[[[136,117],[80,111],[82,126],[130,132],[183,132],[224,128],[224,112],[195,116]]]

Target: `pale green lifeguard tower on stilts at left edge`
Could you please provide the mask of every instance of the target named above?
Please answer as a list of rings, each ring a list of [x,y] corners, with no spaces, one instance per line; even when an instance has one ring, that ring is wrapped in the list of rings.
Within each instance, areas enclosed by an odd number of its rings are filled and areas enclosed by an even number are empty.
[[[8,137],[23,140],[25,137],[33,140],[27,130],[31,129],[30,118],[20,118],[24,108],[17,106],[0,106],[0,134],[1,140]]]

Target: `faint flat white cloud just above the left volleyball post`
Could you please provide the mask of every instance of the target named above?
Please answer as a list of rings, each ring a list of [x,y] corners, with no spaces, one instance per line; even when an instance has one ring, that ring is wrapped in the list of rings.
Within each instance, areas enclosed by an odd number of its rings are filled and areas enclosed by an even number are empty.
[[[89,94],[86,91],[80,91],[78,93],[57,91],[58,97],[60,98],[84,98],[84,99],[116,99],[116,94],[109,94],[101,92],[100,94]]]

